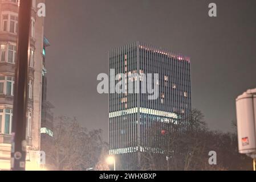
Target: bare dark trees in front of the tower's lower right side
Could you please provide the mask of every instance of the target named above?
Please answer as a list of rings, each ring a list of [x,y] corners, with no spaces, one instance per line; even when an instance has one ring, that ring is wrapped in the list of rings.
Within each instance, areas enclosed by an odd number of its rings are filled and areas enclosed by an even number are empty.
[[[184,128],[188,130],[184,131]],[[161,133],[160,129],[165,132]],[[248,163],[245,156],[238,154],[237,135],[210,131],[199,110],[193,110],[184,122],[168,123],[164,127],[155,125],[151,130],[158,140],[155,143],[153,140],[141,152],[143,170],[237,170],[246,168]],[[217,152],[216,165],[209,164],[210,151]]]

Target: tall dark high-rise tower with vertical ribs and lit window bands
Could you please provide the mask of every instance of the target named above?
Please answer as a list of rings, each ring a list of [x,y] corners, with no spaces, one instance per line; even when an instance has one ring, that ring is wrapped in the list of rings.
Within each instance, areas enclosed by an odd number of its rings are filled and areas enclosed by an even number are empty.
[[[159,132],[164,133],[161,126],[175,125],[189,118],[190,59],[135,42],[110,51],[109,68],[109,76],[115,80],[109,81],[109,154],[115,155],[117,169],[136,169],[140,166],[140,153],[150,148],[155,140],[149,132],[152,127],[157,126]],[[148,80],[148,74],[158,75],[153,79],[154,84]],[[125,92],[113,92],[120,81],[124,83]],[[143,85],[148,88],[150,84],[158,88],[158,97],[154,99],[149,93],[141,92]],[[136,85],[140,92],[130,92],[129,88],[136,88]],[[184,127],[186,130],[186,125]]]

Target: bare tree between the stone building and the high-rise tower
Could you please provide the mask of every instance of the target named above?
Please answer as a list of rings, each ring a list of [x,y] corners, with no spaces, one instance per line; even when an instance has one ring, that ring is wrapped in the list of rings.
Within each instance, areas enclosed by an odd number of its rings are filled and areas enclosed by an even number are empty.
[[[58,117],[54,121],[54,137],[44,144],[47,168],[52,170],[86,170],[94,167],[106,144],[101,130],[88,131],[76,118]]]

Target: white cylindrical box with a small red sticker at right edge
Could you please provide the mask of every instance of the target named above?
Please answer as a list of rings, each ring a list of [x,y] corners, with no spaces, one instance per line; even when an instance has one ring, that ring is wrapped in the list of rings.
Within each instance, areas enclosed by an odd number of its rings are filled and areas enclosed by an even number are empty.
[[[239,153],[256,153],[256,97],[243,93],[237,97],[236,107]]]

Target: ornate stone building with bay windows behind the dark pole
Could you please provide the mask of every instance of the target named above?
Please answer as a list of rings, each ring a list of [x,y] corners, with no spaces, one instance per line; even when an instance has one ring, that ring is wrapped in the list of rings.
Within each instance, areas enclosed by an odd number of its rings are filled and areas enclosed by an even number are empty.
[[[28,70],[27,169],[36,169],[32,151],[40,150],[42,107],[44,17],[37,16],[37,3],[32,0]],[[0,170],[10,169],[11,127],[13,123],[14,73],[17,61],[18,0],[0,1]],[[31,152],[30,152],[31,151]]]

